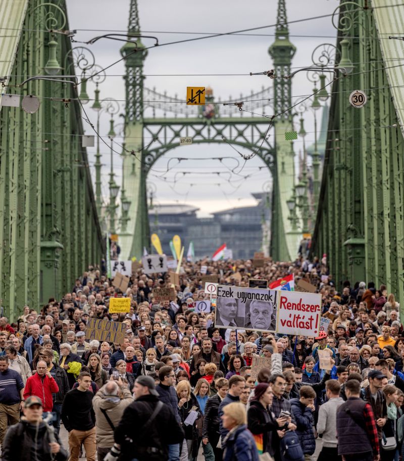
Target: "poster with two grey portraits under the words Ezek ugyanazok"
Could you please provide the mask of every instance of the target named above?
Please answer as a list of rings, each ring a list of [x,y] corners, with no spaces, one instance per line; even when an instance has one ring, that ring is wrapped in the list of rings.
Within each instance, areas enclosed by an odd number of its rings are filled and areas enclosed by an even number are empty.
[[[218,285],[215,327],[276,330],[277,290]]]

